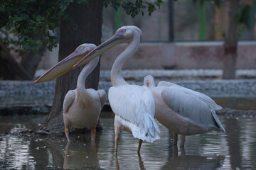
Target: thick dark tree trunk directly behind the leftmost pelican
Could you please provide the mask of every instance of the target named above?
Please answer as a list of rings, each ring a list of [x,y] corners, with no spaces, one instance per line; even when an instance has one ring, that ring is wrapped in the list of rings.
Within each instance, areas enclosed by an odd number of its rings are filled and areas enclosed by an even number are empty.
[[[73,3],[68,6],[66,13],[70,16],[70,19],[60,21],[59,61],[63,60],[63,58],[68,56],[82,43],[100,44],[102,35],[102,9],[102,0],[88,0],[87,3]],[[63,100],[68,90],[76,88],[78,74],[80,74],[81,69],[78,68],[68,72],[56,80],[53,107],[46,120],[44,120],[41,130],[64,132]],[[99,75],[100,63],[89,77],[87,77],[86,87],[97,89]]]

